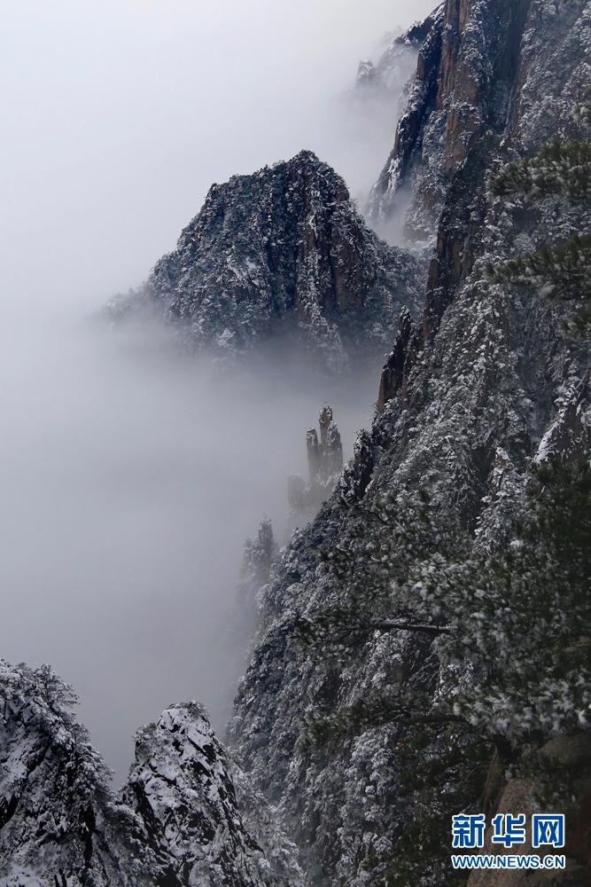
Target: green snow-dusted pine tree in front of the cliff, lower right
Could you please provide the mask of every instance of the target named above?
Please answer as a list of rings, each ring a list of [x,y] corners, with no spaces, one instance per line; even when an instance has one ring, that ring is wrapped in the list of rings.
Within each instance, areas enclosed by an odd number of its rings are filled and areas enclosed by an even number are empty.
[[[331,554],[350,583],[353,606],[308,616],[299,631],[337,649],[362,646],[372,632],[416,632],[435,639],[444,670],[463,671],[467,679],[439,693],[434,706],[429,687],[424,698],[416,687],[408,693],[396,687],[387,699],[366,695],[313,722],[315,737],[391,721],[465,722],[510,755],[525,742],[591,728],[587,464],[536,469],[525,516],[500,553],[479,553],[470,538],[438,528],[428,506],[399,524],[398,507],[388,503],[378,515],[383,530],[375,533],[371,550]],[[406,508],[408,514],[408,503]],[[421,522],[424,530],[417,532]],[[415,551],[430,537],[424,548],[430,553],[409,558],[413,536]]]

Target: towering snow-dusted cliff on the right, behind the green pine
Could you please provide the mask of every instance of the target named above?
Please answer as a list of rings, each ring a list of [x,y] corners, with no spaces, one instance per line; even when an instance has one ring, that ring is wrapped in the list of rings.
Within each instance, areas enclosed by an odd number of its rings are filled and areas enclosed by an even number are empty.
[[[417,796],[401,790],[405,730],[373,723],[315,747],[301,719],[400,685],[431,687],[434,699],[439,682],[454,678],[439,672],[423,635],[374,632],[328,655],[303,647],[298,625],[353,606],[359,589],[331,558],[362,552],[378,564],[388,545],[381,523],[395,516],[404,527],[421,491],[444,523],[486,549],[518,511],[532,459],[588,458],[588,349],[560,334],[567,309],[494,284],[485,269],[588,226],[586,211],[559,197],[535,208],[495,202],[486,181],[554,134],[577,136],[572,111],[586,95],[590,27],[591,4],[558,0],[447,0],[425,26],[408,112],[373,195],[374,213],[386,217],[402,184],[412,189],[408,230],[433,248],[423,317],[400,318],[380,412],[340,495],[293,539],[262,590],[264,624],[232,725],[246,768],[291,823],[310,885],[450,883],[434,867],[379,880],[416,815]],[[409,543],[408,563],[412,551]],[[365,595],[356,605],[370,608],[369,581]],[[447,835],[448,822],[441,828]]]

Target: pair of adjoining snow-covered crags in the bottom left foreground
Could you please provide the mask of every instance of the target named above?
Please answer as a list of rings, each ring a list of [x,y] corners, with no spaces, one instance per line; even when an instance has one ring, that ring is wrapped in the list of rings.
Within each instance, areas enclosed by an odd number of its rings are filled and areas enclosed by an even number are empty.
[[[137,735],[121,794],[43,666],[0,663],[5,887],[297,887],[295,851],[196,703]]]

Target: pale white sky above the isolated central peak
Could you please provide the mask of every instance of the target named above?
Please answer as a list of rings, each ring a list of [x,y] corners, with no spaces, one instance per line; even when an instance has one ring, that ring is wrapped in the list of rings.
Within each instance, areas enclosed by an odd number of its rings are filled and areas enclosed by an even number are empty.
[[[4,284],[97,302],[145,276],[214,181],[303,147],[346,173],[330,98],[433,5],[2,0]]]

